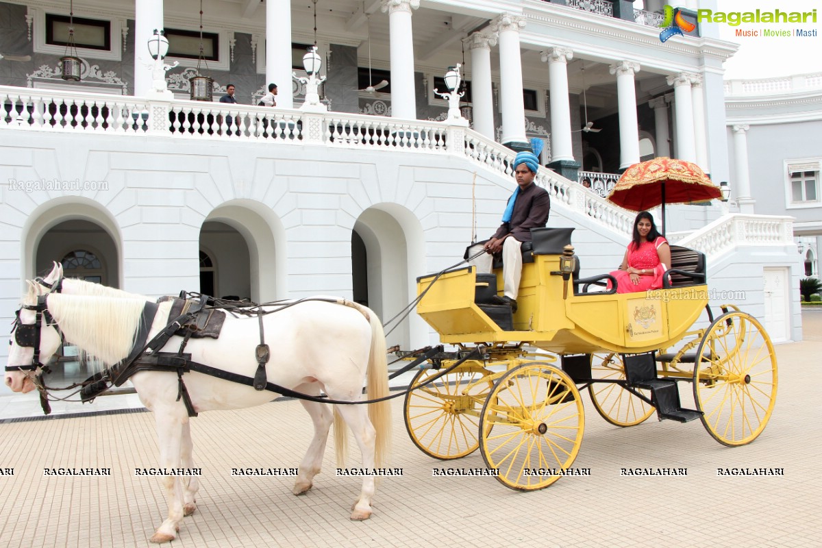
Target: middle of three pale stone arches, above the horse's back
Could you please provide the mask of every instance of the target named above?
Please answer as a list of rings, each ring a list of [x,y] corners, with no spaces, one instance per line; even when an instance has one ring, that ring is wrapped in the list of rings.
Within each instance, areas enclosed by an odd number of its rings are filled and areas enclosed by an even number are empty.
[[[252,301],[286,296],[285,228],[272,210],[254,200],[229,200],[203,219],[203,224],[209,222],[227,224],[245,240]]]

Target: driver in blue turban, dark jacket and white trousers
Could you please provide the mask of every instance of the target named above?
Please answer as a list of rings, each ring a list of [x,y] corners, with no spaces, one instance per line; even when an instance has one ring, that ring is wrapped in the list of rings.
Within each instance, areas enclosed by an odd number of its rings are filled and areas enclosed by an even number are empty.
[[[493,256],[501,254],[505,290],[503,297],[496,297],[496,303],[510,305],[514,312],[522,277],[522,244],[531,242],[531,228],[544,227],[551,211],[548,192],[533,182],[539,169],[538,154],[543,149],[543,141],[534,139],[531,145],[533,152],[520,152],[512,164],[517,187],[508,199],[500,228],[496,229],[490,239],[470,246],[466,256],[486,251],[471,260],[471,264],[477,267],[477,272],[482,274],[491,272]]]

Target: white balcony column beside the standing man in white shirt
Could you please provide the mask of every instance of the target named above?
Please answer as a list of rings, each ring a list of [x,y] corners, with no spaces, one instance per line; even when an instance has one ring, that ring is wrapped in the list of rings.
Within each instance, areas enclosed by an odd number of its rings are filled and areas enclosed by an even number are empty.
[[[291,87],[291,2],[266,2],[266,91],[277,85],[277,107],[294,108]]]

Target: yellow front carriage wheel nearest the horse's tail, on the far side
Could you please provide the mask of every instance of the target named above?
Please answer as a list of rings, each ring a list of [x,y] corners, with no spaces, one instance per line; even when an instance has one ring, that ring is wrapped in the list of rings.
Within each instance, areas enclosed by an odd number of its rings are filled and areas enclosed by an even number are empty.
[[[440,371],[423,369],[411,386],[423,384]],[[482,367],[459,367],[430,385],[405,394],[405,429],[413,443],[433,458],[460,458],[477,450],[478,409],[491,390],[491,375]]]

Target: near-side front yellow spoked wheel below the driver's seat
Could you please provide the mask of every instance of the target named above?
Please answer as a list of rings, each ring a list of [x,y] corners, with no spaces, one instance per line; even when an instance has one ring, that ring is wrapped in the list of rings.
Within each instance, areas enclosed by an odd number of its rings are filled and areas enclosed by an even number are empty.
[[[502,375],[488,394],[479,419],[480,452],[503,485],[544,489],[574,463],[584,426],[574,381],[547,363],[523,364]]]

